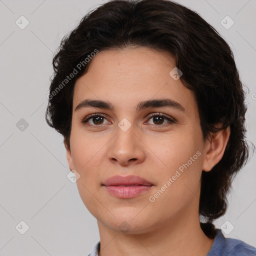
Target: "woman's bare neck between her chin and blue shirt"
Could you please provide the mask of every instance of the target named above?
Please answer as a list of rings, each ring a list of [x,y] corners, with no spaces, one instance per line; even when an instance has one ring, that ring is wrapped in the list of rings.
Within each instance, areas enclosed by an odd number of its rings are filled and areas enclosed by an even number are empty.
[[[193,204],[191,204],[193,205]],[[199,214],[194,209],[178,212],[146,231],[123,233],[97,221],[100,235],[99,256],[189,255],[206,256],[214,239],[200,228]]]

